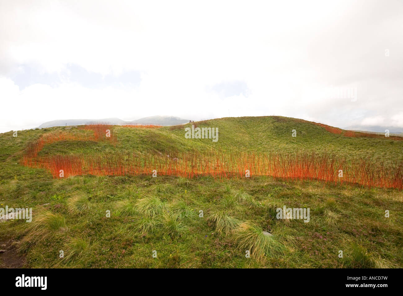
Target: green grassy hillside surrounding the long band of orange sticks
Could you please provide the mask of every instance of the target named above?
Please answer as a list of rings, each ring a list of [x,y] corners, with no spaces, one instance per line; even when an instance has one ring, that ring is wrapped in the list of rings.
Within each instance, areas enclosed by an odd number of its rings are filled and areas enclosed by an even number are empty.
[[[403,160],[398,137],[294,118],[220,118],[194,124],[217,127],[218,141],[185,139],[184,128],[191,124],[112,126],[114,142],[95,141],[91,130],[74,127],[23,130],[18,137],[1,134],[0,208],[32,207],[33,221],[0,222],[0,248],[6,250],[0,253],[0,266],[403,267],[403,195],[398,189],[253,175],[153,178],[150,172],[53,178],[49,170],[21,164],[29,143],[56,133],[71,139],[44,145],[39,159],[219,149],[289,154],[326,150],[385,165]],[[309,223],[276,219],[276,209],[284,205],[310,208]]]

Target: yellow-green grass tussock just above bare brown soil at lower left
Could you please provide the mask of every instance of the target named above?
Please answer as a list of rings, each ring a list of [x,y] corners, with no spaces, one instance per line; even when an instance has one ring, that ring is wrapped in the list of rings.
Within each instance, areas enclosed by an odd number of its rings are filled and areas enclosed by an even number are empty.
[[[66,225],[62,215],[54,214],[50,211],[42,210],[36,217],[33,217],[27,228],[28,234],[23,238],[23,242],[36,242],[46,239]]]

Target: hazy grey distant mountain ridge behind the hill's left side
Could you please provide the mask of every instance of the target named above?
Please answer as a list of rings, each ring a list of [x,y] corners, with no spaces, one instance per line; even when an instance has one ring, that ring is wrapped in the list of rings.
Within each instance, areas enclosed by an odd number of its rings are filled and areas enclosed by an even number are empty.
[[[177,125],[189,122],[189,120],[181,119],[175,116],[150,116],[143,117],[136,120],[126,121],[119,118],[102,118],[102,119],[60,119],[52,120],[42,123],[38,128],[47,128],[53,126],[65,126],[65,125],[83,125],[89,123],[106,123],[112,125],[130,125],[130,124],[154,124],[154,125]]]

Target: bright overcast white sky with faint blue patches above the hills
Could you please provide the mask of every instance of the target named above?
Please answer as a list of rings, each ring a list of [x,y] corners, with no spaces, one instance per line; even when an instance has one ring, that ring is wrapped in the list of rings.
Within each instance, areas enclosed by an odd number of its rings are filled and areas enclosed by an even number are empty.
[[[0,96],[0,132],[154,115],[403,127],[403,1],[0,0]]]

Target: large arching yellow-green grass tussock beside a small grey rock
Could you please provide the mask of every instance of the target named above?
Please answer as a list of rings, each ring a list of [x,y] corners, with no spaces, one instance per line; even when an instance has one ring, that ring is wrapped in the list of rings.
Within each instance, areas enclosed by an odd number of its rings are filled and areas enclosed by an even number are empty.
[[[285,251],[285,246],[276,236],[266,235],[259,226],[249,223],[239,225],[235,230],[234,239],[240,250],[249,250],[251,258],[258,261],[264,261],[266,256],[278,258]]]

